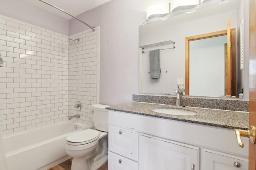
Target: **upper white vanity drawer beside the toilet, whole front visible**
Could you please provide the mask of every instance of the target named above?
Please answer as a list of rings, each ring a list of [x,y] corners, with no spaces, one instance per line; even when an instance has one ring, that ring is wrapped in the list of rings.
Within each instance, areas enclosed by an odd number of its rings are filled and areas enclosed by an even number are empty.
[[[138,132],[109,125],[108,150],[138,161]]]

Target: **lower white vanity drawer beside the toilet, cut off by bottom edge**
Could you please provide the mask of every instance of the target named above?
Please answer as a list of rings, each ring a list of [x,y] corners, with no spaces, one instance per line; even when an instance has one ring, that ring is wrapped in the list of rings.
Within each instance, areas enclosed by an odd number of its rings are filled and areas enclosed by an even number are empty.
[[[138,162],[108,151],[109,170],[138,170]]]

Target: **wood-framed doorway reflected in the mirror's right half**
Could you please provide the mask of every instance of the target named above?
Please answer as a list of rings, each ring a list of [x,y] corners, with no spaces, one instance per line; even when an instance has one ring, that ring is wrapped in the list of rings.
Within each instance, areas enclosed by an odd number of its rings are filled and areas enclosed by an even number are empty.
[[[223,30],[185,38],[186,95],[236,96],[236,46],[228,45],[228,39],[236,44],[236,29],[227,35]]]

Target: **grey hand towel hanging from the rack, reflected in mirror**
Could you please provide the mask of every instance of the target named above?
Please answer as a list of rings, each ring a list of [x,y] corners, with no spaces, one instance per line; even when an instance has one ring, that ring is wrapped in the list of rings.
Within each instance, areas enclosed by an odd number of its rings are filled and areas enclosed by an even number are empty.
[[[149,52],[150,57],[150,78],[160,78],[160,49],[152,50]]]

